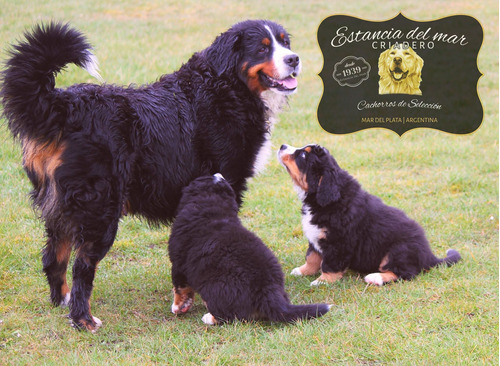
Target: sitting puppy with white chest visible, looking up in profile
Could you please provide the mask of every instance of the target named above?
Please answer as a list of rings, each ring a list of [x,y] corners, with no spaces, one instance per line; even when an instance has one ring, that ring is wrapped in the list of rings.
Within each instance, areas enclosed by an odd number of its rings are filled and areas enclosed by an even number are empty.
[[[278,159],[303,202],[302,227],[309,240],[306,263],[292,274],[314,275],[321,268],[311,285],[332,283],[351,269],[368,273],[365,281],[381,286],[460,260],[453,249],[436,258],[418,223],[364,191],[325,148],[282,145]]]

